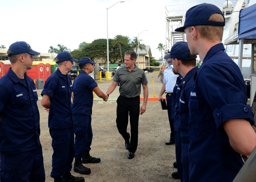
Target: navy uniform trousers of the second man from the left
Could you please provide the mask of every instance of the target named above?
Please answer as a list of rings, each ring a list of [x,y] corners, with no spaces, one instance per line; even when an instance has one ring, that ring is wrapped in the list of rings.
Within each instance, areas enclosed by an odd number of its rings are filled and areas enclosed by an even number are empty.
[[[75,155],[74,128],[50,128],[52,138],[52,178],[59,178],[72,169]]]

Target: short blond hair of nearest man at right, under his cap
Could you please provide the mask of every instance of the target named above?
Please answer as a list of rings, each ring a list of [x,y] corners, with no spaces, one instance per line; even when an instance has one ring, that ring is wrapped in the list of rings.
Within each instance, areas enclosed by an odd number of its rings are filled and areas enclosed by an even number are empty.
[[[214,13],[210,16],[209,21],[224,22],[224,19],[221,14]],[[187,27],[188,32],[191,32],[191,27]],[[215,25],[197,25],[194,26],[198,29],[198,32],[203,38],[206,38],[209,41],[222,41],[223,36],[223,26]]]

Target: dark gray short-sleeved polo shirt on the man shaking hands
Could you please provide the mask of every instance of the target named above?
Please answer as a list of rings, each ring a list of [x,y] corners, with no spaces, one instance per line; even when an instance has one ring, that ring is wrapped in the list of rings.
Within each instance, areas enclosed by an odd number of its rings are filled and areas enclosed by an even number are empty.
[[[141,85],[148,83],[145,72],[136,65],[131,72],[126,67],[116,70],[113,81],[120,82],[119,93],[128,98],[139,96]]]

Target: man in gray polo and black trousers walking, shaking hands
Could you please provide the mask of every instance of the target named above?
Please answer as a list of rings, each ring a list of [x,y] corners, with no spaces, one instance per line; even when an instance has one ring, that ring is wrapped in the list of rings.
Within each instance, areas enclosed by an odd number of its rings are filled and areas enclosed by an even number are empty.
[[[109,96],[120,82],[120,96],[116,100],[116,126],[125,140],[125,148],[129,151],[128,159],[134,158],[138,146],[139,115],[146,111],[148,87],[145,72],[134,64],[137,55],[128,50],[124,53],[125,67],[116,70],[113,83],[109,86],[106,95]],[[141,85],[143,87],[144,101],[140,108]],[[127,132],[128,114],[130,115],[131,140]]]

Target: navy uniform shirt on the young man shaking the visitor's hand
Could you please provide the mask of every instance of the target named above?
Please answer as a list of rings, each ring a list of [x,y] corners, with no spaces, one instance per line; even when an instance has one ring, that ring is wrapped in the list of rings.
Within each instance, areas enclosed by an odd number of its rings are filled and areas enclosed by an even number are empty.
[[[92,89],[97,86],[94,79],[85,71],[81,70],[73,82],[73,114],[91,115],[93,103]]]

